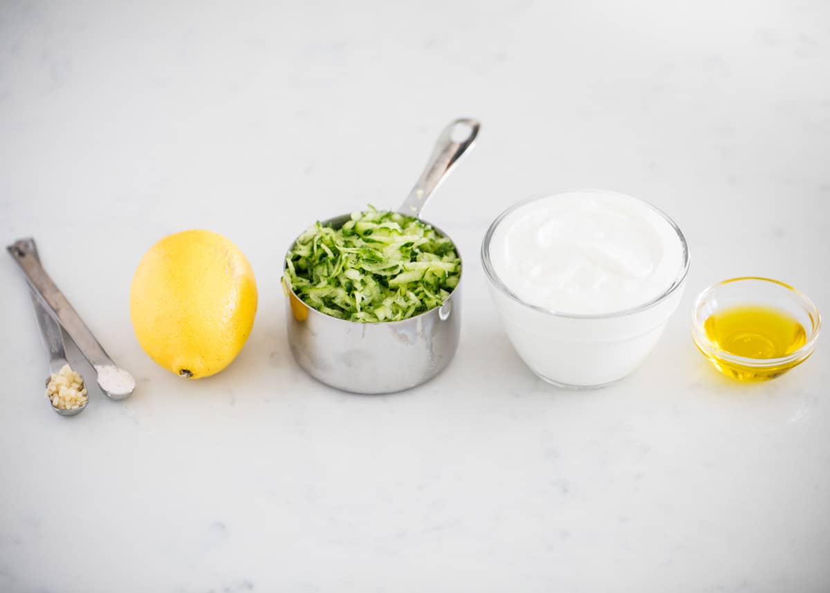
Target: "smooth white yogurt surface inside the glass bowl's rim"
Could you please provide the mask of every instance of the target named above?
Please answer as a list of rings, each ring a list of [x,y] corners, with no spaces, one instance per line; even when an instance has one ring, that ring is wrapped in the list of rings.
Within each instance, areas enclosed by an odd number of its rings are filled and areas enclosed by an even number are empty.
[[[661,296],[681,269],[683,246],[666,218],[637,198],[571,192],[510,212],[493,233],[490,257],[521,300],[595,315]]]

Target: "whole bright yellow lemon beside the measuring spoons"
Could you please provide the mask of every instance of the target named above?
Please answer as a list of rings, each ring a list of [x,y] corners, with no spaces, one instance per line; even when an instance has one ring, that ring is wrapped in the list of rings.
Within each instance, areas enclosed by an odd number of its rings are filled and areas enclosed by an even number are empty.
[[[242,350],[256,315],[251,264],[227,238],[183,231],[149,248],[129,289],[135,336],[187,379],[218,373]]]

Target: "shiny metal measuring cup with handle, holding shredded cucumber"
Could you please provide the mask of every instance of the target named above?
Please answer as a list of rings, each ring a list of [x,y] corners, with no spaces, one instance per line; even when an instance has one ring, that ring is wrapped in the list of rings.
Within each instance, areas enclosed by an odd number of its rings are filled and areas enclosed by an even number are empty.
[[[476,120],[459,119],[443,130],[399,213],[419,216],[432,192],[476,140],[480,127]],[[343,214],[322,224],[339,228],[350,218],[350,214]],[[434,224],[427,224],[447,236]],[[287,282],[284,266],[291,354],[309,375],[340,390],[380,394],[421,385],[440,373],[458,348],[463,274],[461,262],[458,286],[441,306],[403,321],[362,323],[329,316],[306,305]]]

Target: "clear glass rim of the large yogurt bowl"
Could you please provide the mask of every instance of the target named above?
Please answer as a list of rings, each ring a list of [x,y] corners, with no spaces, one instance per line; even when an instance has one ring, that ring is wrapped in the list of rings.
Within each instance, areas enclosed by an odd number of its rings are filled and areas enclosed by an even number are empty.
[[[544,306],[534,305],[530,302],[525,301],[520,296],[515,294],[515,292],[511,291],[504,282],[501,281],[501,278],[496,273],[496,270],[493,269],[493,265],[490,258],[490,243],[493,238],[493,235],[496,233],[496,228],[499,227],[500,223],[504,221],[507,216],[511,213],[515,212],[519,208],[526,206],[529,203],[533,203],[539,201],[544,198],[559,198],[561,196],[567,194],[605,194],[605,195],[616,195],[622,196],[624,198],[631,198],[633,200],[637,200],[637,202],[642,203],[647,208],[650,208],[653,212],[657,213],[661,216],[666,223],[669,223],[669,226],[674,230],[677,234],[677,238],[680,239],[681,248],[682,248],[682,256],[683,262],[681,264],[680,271],[677,272],[677,275],[674,281],[671,282],[671,285],[666,288],[664,292],[660,295],[655,296],[649,301],[642,303],[642,305],[628,307],[627,309],[620,309],[618,311],[610,311],[608,313],[569,313],[567,311],[554,311],[553,309],[549,309]],[[657,208],[654,204],[647,202],[644,199],[637,198],[635,196],[629,194],[623,194],[621,192],[615,192],[609,189],[593,189],[593,188],[577,188],[577,189],[565,189],[564,191],[548,193],[548,194],[536,194],[530,196],[530,198],[522,199],[508,208],[505,208],[491,223],[490,227],[487,228],[487,232],[484,234],[484,239],[481,241],[481,266],[484,268],[484,273],[487,279],[491,282],[491,285],[496,287],[500,292],[505,294],[510,300],[519,303],[520,305],[526,306],[530,309],[534,309],[535,311],[539,311],[544,315],[554,316],[554,317],[564,317],[567,319],[613,319],[614,317],[623,317],[627,315],[632,315],[633,313],[639,313],[640,311],[645,311],[647,309],[652,308],[652,306],[657,306],[662,301],[665,301],[666,298],[671,296],[672,293],[676,292],[676,290],[683,286],[683,283],[686,282],[686,277],[689,274],[689,267],[691,264],[691,254],[689,252],[689,243],[686,241],[686,236],[681,231],[680,227],[677,226],[677,223],[671,219],[671,217],[663,212],[660,208]]]

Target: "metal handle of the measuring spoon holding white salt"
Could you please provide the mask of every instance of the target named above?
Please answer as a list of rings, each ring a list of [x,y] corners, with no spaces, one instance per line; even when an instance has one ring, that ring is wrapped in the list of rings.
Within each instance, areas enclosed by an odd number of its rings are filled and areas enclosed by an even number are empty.
[[[86,360],[89,360],[93,366],[114,365],[110,355],[107,355],[104,348],[95,340],[95,336],[81,320],[81,316],[72,308],[66,296],[63,296],[63,293],[55,286],[55,282],[52,282],[46,270],[41,266],[35,242],[32,239],[21,239],[9,245],[7,250],[26,274],[32,292],[41,304],[46,306],[51,315],[61,322],[66,333],[75,341],[78,350],[81,350]],[[40,321],[39,317],[38,321]],[[51,344],[47,346],[52,352]]]

